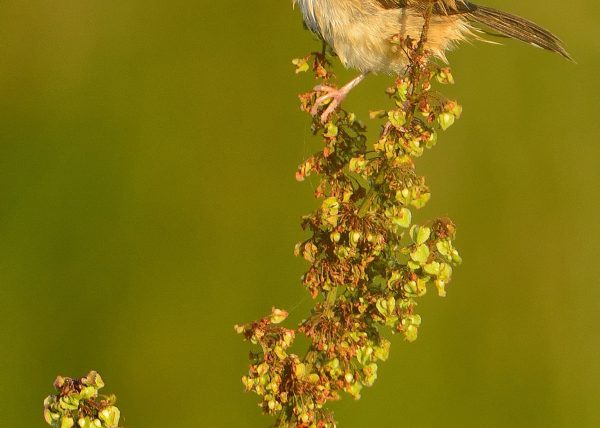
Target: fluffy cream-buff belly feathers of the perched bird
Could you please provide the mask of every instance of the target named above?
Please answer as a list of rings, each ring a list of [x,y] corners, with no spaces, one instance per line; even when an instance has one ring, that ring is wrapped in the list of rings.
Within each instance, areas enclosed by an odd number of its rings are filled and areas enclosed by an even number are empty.
[[[409,8],[384,9],[374,0],[296,0],[304,22],[332,47],[344,66],[361,72],[400,73],[407,59],[390,39],[397,34],[418,39],[423,18]],[[445,59],[454,42],[470,34],[457,16],[431,19],[427,48]]]

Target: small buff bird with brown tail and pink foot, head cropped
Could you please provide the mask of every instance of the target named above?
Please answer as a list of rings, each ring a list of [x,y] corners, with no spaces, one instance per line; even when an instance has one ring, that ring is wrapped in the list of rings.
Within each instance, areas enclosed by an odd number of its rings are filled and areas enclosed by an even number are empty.
[[[341,88],[314,88],[323,95],[313,105],[313,116],[329,101],[321,115],[323,122],[367,74],[399,74],[406,69],[406,53],[391,40],[398,35],[418,40],[428,7],[431,15],[424,48],[444,62],[446,52],[459,42],[487,41],[482,33],[521,40],[573,60],[563,42],[543,27],[466,0],[293,0],[293,4],[302,12],[306,27],[331,48],[346,68],[360,73]]]

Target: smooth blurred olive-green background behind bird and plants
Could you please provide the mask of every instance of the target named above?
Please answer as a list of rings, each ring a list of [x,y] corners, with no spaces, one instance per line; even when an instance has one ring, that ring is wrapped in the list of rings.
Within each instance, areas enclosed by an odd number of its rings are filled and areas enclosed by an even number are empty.
[[[578,65],[512,41],[450,54],[465,111],[418,163],[417,221],[452,217],[465,262],[340,427],[600,426],[600,7],[486,4]],[[290,0],[2,2],[1,426],[43,427],[54,377],[90,369],[130,428],[268,426],[232,326],[312,305],[292,249],[317,204],[294,180],[313,81],[291,59],[317,46]],[[389,82],[346,106],[385,108]]]

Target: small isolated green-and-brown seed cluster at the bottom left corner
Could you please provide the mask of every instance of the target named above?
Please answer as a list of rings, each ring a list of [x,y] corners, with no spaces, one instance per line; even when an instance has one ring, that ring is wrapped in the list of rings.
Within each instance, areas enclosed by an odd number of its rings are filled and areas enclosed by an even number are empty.
[[[91,371],[81,379],[58,376],[58,390],[44,400],[44,419],[52,428],[118,428],[121,412],[114,395],[99,395],[104,382]]]

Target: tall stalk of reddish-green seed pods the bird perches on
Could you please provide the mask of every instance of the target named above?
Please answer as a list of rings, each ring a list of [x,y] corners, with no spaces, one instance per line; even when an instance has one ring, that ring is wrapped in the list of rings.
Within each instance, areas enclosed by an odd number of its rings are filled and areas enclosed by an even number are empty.
[[[390,41],[409,64],[387,90],[393,106],[371,113],[372,119],[385,119],[372,147],[352,113],[340,110],[327,123],[318,114],[313,118],[312,131],[324,147],[300,165],[296,178],[317,175],[315,196],[321,202],[303,218],[311,236],[296,245],[296,254],[310,263],[304,286],[322,299],[297,329],[280,326],[288,314],[275,308],[235,327],[260,346],[242,381],[261,397],[263,411],[276,416],[276,427],[335,427],[325,404],[342,391],[358,399],[363,387],[373,385],[390,349],[381,330],[414,341],[421,324],[416,299],[432,285],[445,296],[452,267],[461,261],[449,219],[412,221],[413,209],[430,198],[414,160],[435,145],[437,129],[447,129],[461,113],[456,102],[432,90],[433,80],[444,84],[453,78],[424,49],[430,13],[425,12],[419,40]],[[297,72],[312,69],[323,83],[334,78],[322,53],[294,64]],[[302,110],[310,112],[318,95],[302,94]],[[290,352],[297,334],[310,341],[303,356]]]

